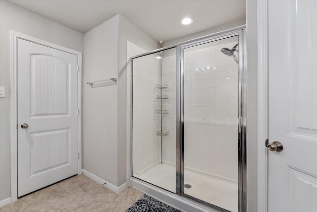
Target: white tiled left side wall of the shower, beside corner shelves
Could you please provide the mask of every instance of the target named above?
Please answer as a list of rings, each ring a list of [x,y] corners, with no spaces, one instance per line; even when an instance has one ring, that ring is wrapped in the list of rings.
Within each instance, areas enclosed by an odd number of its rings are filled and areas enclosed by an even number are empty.
[[[158,161],[159,141],[155,135],[158,128],[157,117],[154,114],[156,99],[154,85],[157,82],[157,73],[151,70],[156,68],[156,60],[134,61],[133,83],[133,146],[131,146],[131,61],[134,55],[144,52],[142,48],[127,42],[127,179],[131,173],[131,148],[133,160],[133,174],[136,174]],[[157,153],[155,153],[157,151]]]

